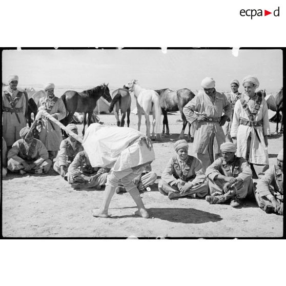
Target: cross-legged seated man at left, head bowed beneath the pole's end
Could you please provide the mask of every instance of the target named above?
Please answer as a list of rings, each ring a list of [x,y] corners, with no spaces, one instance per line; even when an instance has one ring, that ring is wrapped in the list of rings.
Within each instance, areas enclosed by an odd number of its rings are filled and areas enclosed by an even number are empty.
[[[7,168],[21,175],[28,173],[47,173],[52,161],[49,159],[45,145],[33,137],[29,127],[24,127],[19,134],[22,139],[17,140],[8,151]],[[28,134],[29,133],[29,134]],[[25,136],[28,134],[27,138]]]

